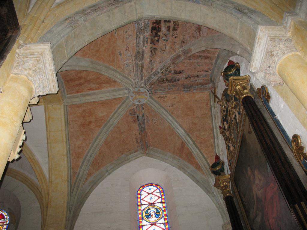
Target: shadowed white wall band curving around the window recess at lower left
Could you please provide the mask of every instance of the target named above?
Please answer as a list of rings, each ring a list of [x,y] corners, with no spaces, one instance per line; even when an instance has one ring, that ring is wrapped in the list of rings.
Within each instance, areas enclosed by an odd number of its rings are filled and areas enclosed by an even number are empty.
[[[21,216],[19,230],[41,230],[41,208],[33,192],[23,183],[5,176],[0,189],[12,192],[19,200]]]

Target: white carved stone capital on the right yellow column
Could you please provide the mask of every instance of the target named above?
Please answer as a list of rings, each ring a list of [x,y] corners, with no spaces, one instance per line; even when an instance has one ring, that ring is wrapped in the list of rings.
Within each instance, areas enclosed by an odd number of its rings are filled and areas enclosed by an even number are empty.
[[[284,27],[259,26],[250,70],[263,85],[283,85],[276,68],[282,57],[293,52],[296,49]]]

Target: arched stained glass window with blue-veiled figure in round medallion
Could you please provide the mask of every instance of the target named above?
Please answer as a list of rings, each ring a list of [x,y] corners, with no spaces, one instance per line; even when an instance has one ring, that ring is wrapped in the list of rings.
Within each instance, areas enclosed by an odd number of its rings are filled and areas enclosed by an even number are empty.
[[[164,190],[156,184],[146,184],[138,193],[139,230],[169,230]]]

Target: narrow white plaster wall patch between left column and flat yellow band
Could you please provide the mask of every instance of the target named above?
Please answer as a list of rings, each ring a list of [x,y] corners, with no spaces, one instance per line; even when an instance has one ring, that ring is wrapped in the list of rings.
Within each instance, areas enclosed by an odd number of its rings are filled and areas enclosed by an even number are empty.
[[[33,119],[22,124],[26,135],[25,143],[36,156],[48,179],[48,147],[44,105],[32,106],[31,112]]]

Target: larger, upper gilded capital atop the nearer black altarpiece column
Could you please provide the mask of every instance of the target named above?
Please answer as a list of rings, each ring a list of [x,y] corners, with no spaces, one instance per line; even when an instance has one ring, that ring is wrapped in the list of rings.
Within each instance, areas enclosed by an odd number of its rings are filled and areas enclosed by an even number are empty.
[[[236,98],[242,101],[246,96],[251,96],[249,91],[249,82],[251,77],[249,75],[245,76],[232,76],[229,79],[228,91],[230,95],[234,95]]]

